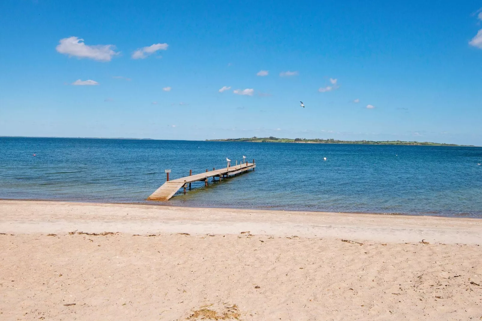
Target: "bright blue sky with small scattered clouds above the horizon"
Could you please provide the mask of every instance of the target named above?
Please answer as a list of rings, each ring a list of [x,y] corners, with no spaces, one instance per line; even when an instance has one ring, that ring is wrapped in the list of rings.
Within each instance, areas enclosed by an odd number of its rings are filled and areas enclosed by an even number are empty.
[[[482,1],[392,2],[1,1],[0,135],[482,145]]]

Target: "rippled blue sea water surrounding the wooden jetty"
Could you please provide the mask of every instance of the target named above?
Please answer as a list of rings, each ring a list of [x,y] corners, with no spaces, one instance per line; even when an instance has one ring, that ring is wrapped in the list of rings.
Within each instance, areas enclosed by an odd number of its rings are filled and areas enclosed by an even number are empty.
[[[146,201],[165,169],[243,155],[253,172]],[[0,198],[482,218],[478,163],[482,147],[0,137]]]

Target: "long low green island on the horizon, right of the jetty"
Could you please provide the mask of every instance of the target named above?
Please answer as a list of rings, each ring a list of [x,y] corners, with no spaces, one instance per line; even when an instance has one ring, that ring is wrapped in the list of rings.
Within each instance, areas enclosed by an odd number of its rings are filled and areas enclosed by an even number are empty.
[[[419,145],[419,146],[473,146],[473,145],[456,145],[432,142],[406,142],[402,140],[338,140],[333,138],[277,138],[269,137],[251,137],[251,138],[225,138],[225,139],[206,139],[211,142],[253,142],[253,143],[311,143],[311,144],[367,144],[367,145]]]

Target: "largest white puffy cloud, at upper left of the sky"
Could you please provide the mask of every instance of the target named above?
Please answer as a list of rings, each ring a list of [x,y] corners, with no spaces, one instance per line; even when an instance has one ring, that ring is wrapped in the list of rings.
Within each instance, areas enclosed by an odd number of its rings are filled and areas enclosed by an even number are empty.
[[[83,39],[69,37],[59,40],[60,44],[55,47],[60,54],[68,54],[78,58],[90,58],[97,61],[110,61],[112,56],[119,54],[113,51],[114,45],[86,45]]]

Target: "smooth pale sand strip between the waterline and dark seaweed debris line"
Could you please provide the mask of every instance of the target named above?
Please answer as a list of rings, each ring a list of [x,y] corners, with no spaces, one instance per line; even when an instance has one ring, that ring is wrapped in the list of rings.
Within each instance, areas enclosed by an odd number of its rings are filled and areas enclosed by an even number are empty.
[[[482,244],[478,218],[0,200],[0,231],[67,233],[75,229],[133,234],[252,230],[275,236]]]

